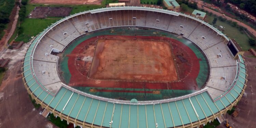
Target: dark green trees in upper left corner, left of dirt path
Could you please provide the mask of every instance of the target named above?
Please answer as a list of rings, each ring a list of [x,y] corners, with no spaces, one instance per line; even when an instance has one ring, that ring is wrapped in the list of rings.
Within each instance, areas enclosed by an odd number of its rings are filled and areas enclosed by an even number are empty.
[[[10,14],[15,5],[15,0],[0,0],[0,33],[5,29],[6,24],[10,22]]]

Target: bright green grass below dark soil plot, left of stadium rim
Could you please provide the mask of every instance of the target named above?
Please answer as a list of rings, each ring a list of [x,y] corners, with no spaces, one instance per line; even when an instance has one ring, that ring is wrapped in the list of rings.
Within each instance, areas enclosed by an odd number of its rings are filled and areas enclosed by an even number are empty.
[[[42,32],[47,26],[50,26],[51,23],[55,23],[56,19],[30,19],[26,18],[21,24],[20,27],[23,28],[22,34],[19,34],[15,41],[24,41],[29,42],[32,36],[37,35],[39,32]]]

